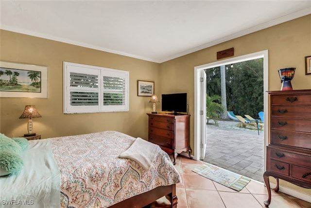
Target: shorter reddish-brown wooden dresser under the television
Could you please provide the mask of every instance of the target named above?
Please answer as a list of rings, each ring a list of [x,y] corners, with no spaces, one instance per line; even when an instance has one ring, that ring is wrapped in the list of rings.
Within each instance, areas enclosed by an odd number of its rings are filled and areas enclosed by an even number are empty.
[[[176,164],[177,154],[190,149],[190,115],[152,114],[147,113],[148,141],[157,144],[168,154],[173,154]]]

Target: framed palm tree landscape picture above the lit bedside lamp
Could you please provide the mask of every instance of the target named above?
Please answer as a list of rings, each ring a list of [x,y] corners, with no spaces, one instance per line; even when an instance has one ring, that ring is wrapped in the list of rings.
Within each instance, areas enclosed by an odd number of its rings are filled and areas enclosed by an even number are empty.
[[[0,61],[0,97],[48,97],[48,67]]]

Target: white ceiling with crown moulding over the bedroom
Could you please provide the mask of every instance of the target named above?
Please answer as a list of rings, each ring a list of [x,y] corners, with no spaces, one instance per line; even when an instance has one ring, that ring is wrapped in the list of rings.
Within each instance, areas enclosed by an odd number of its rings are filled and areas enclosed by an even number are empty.
[[[311,0],[1,0],[0,28],[161,63],[311,14]]]

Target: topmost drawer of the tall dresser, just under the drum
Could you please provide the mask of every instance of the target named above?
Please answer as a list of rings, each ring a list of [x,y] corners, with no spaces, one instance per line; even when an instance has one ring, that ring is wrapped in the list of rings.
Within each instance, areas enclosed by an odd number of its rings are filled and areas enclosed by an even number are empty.
[[[274,95],[271,105],[310,105],[311,95]]]

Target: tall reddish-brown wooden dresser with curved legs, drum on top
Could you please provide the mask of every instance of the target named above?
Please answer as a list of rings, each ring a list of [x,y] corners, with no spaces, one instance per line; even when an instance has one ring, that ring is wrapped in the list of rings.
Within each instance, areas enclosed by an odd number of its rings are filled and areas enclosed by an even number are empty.
[[[271,202],[269,176],[311,189],[311,90],[274,91],[270,96],[270,144],[263,178]]]

